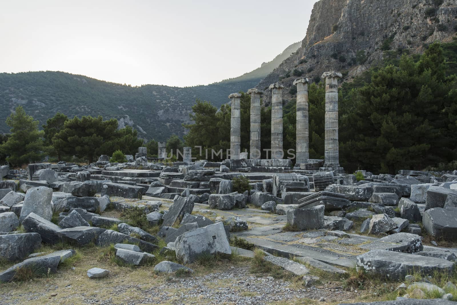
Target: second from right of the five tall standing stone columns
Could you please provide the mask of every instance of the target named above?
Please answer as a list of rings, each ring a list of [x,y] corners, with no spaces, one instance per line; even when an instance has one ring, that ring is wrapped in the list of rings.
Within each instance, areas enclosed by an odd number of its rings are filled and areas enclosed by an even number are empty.
[[[308,79],[295,79],[297,85],[297,164],[308,163],[309,159],[309,125],[308,125]]]

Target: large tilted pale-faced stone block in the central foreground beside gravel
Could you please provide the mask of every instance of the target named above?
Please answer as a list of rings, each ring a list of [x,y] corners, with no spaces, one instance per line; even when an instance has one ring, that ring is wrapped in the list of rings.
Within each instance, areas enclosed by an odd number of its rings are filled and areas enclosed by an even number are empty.
[[[176,238],[176,257],[184,263],[202,254],[229,256],[232,253],[222,222],[188,231]]]

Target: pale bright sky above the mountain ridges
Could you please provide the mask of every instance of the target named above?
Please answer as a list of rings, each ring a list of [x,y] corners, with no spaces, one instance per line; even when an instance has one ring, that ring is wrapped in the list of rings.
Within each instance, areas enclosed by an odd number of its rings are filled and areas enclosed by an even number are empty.
[[[0,72],[191,86],[303,40],[316,0],[0,0]]]

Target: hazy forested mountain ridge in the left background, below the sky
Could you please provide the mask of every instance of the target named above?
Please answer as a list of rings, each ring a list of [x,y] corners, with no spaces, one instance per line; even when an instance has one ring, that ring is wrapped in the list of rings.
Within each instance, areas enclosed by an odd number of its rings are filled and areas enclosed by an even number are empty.
[[[255,87],[300,45],[300,42],[292,44],[272,61],[237,78],[186,88],[132,87],[53,71],[1,73],[0,133],[9,132],[6,117],[16,106],[22,105],[40,125],[56,112],[69,117],[101,115],[106,119],[117,118],[120,128],[132,126],[138,130],[138,136],[145,139],[164,141],[171,134],[182,137],[185,130],[181,124],[189,120],[196,99],[221,106],[228,101],[229,94]]]

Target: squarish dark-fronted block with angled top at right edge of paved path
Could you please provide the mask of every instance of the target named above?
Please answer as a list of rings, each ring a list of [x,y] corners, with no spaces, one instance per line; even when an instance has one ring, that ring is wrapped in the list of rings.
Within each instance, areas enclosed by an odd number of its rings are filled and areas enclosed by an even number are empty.
[[[287,223],[298,230],[313,230],[324,227],[324,205],[310,209],[287,210]]]

